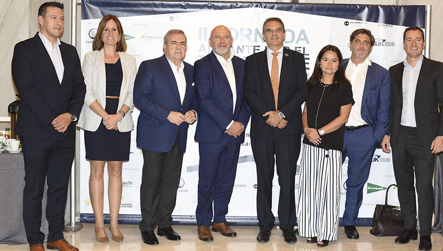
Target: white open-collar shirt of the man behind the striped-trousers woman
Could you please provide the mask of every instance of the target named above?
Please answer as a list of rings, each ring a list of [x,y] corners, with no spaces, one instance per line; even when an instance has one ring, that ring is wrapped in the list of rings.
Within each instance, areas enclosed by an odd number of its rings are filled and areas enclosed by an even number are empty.
[[[346,126],[359,126],[366,124],[361,118],[361,100],[363,98],[364,82],[366,81],[367,68],[372,65],[369,57],[366,57],[362,63],[355,65],[349,58],[345,70],[346,78],[352,85],[352,97],[354,98],[354,105],[350,109],[349,118]]]

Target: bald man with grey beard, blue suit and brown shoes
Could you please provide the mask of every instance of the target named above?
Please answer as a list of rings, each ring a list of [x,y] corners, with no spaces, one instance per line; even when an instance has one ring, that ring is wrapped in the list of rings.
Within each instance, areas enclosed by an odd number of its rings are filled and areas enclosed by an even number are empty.
[[[213,231],[236,236],[225,215],[250,116],[243,101],[244,60],[230,51],[230,30],[222,25],[213,28],[209,45],[212,52],[194,63],[195,93],[201,111],[195,131],[200,155],[195,216],[201,240],[213,240],[209,230],[212,215]]]

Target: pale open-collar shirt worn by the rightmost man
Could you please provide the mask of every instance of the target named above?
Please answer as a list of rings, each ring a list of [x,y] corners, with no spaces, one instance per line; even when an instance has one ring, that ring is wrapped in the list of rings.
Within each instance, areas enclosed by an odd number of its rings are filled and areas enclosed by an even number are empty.
[[[423,55],[412,67],[404,59],[402,92],[403,92],[403,108],[401,110],[401,125],[416,127],[415,122],[415,89],[417,87],[418,74],[420,73],[421,63],[423,62]]]

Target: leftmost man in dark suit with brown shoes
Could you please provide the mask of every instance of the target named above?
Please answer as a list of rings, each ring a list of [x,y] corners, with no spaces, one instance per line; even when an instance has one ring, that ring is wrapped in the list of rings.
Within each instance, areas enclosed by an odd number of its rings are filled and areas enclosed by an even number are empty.
[[[12,78],[21,98],[16,129],[23,148],[23,223],[30,250],[44,250],[40,223],[45,178],[47,248],[78,250],[61,231],[74,157],[73,121],[83,105],[86,86],[75,47],[58,39],[63,21],[62,3],[41,4],[40,31],[15,44],[12,57]]]

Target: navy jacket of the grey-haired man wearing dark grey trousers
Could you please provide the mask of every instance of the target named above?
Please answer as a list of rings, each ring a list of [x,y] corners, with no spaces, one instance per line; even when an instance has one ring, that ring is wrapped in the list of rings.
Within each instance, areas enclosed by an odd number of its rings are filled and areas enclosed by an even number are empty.
[[[140,109],[137,121],[137,146],[158,152],[168,152],[175,142],[180,128],[181,152],[186,150],[188,123],[179,126],[167,120],[170,111],[182,114],[198,107],[194,95],[193,67],[184,62],[186,91],[183,103],[180,102],[174,73],[166,56],[141,62],[134,81],[134,105]]]

